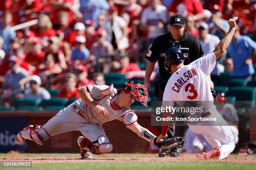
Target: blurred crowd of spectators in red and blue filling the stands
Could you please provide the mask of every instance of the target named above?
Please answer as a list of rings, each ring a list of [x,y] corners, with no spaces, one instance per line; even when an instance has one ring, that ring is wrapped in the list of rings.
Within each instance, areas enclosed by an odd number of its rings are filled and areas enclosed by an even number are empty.
[[[110,72],[141,76],[148,48],[169,31],[175,13],[186,18],[185,32],[200,39],[205,53],[228,31],[227,20],[238,16],[233,42],[212,76],[218,79],[227,70],[253,81],[255,11],[253,0],[4,0],[1,105],[12,106],[20,98],[49,99],[45,89],[60,89],[57,97],[79,97],[77,87],[105,83],[104,74]],[[38,22],[13,30],[32,20]]]

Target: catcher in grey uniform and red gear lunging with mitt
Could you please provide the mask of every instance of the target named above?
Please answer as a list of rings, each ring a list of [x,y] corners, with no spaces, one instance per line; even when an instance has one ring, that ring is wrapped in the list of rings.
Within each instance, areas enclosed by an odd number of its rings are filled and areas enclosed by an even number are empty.
[[[20,131],[15,137],[15,143],[23,143],[26,139],[39,145],[49,140],[51,136],[69,131],[80,131],[84,136],[77,139],[82,159],[92,158],[92,153],[101,155],[110,153],[113,145],[106,136],[101,124],[111,120],[120,120],[127,128],[144,140],[156,143],[156,136],[138,124],[138,117],[130,110],[134,100],[147,106],[148,91],[141,84],[125,83],[116,90],[113,84],[86,85],[79,87],[78,100],[59,111],[46,124],[30,125]],[[156,143],[159,148],[172,148],[178,145],[175,139],[165,139]]]

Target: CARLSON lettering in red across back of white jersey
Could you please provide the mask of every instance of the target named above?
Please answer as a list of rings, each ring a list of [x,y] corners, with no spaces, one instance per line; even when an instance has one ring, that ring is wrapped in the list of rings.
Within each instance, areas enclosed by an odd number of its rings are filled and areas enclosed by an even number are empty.
[[[177,72],[178,74],[179,72]],[[187,83],[187,80],[197,75],[197,72],[195,68],[192,68],[190,70],[187,70],[187,72],[184,72],[183,77],[180,77],[176,82],[174,83],[174,86],[172,87],[172,90],[175,92],[179,92],[183,85]]]

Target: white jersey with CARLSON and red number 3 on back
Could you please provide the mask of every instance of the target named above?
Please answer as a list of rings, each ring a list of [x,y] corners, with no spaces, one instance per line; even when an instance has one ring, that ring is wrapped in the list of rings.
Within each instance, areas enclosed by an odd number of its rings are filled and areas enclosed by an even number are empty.
[[[173,72],[164,89],[163,101],[213,101],[209,75],[215,63],[216,57],[211,52]]]

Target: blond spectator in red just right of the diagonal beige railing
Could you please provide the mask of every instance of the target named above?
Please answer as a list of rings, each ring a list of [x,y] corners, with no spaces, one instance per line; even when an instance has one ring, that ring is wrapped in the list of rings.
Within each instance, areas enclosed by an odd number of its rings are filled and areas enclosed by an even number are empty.
[[[38,16],[38,24],[34,29],[38,37],[51,37],[56,35],[56,31],[52,28],[52,23],[49,16],[41,14]]]

